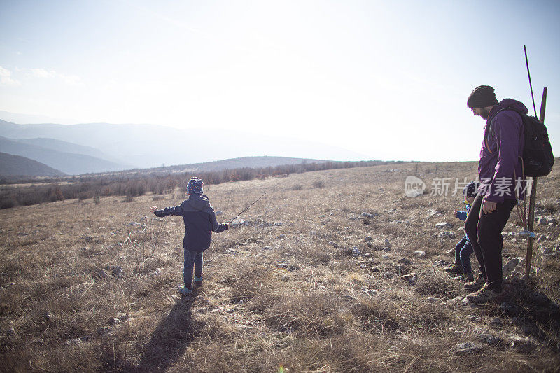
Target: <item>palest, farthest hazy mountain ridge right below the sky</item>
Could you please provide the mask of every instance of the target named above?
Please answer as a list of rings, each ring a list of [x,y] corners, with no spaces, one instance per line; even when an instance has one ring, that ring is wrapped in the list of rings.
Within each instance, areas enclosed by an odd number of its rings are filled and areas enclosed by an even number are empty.
[[[159,125],[15,125],[0,122],[0,136],[48,138],[96,148],[139,168],[162,164],[195,164],[239,156],[290,156],[323,160],[366,160],[367,156],[337,146],[282,135],[265,136],[232,129],[176,129]]]

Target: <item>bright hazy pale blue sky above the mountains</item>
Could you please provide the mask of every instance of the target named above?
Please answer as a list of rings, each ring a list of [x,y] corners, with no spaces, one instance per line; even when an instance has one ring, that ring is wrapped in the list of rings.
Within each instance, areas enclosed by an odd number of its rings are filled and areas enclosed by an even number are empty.
[[[0,0],[0,110],[477,160],[468,94],[532,112],[526,45],[560,155],[559,20],[560,1]]]

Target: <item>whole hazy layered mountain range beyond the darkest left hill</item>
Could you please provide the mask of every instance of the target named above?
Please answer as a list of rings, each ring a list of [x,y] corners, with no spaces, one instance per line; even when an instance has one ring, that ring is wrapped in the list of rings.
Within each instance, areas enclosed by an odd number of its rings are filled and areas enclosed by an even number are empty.
[[[0,120],[0,136],[0,151],[29,157],[66,174],[198,164],[239,156],[366,159],[336,146],[281,136],[281,129],[279,136],[265,136],[235,129],[109,123],[18,125]]]

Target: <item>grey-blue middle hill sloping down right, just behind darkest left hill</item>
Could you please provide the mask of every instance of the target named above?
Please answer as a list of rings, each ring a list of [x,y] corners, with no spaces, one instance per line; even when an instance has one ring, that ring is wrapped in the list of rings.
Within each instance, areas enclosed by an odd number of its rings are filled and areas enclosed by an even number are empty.
[[[52,150],[43,146],[6,139],[3,136],[0,136],[0,150],[3,153],[36,160],[71,175],[118,171],[125,168],[123,164],[102,160],[90,155]]]

